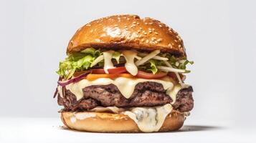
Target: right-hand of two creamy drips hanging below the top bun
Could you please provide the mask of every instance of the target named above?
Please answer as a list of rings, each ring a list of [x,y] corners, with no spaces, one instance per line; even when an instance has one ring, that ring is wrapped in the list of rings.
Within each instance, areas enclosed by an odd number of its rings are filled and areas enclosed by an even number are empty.
[[[126,60],[125,69],[133,76],[136,76],[138,74],[138,67],[134,64],[134,59],[137,56],[136,51],[124,50],[122,54]]]

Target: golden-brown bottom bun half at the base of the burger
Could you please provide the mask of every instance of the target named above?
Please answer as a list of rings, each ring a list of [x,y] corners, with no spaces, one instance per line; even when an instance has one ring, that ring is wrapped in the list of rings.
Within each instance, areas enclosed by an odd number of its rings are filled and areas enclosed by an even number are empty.
[[[84,113],[84,112],[83,112]],[[72,112],[62,112],[61,119],[65,126],[70,129],[87,132],[141,132],[133,119],[125,114],[90,112],[93,117],[76,119],[72,122],[74,114]],[[158,132],[175,131],[182,127],[184,114],[172,111],[163,122]]]

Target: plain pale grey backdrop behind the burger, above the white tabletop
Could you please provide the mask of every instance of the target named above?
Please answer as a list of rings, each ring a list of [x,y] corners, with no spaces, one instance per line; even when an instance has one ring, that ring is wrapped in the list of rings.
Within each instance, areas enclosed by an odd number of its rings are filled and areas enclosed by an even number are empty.
[[[103,16],[138,14],[178,31],[195,61],[186,80],[195,100],[187,122],[255,127],[255,6],[231,0],[1,0],[0,118],[59,117],[52,99],[55,71],[71,36]]]

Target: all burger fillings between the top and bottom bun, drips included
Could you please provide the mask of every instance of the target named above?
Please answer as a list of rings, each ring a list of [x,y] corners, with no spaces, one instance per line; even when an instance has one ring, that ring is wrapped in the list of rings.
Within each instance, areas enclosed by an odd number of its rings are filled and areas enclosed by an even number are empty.
[[[193,108],[193,89],[184,84],[187,64],[193,61],[160,50],[87,48],[60,62],[54,97],[61,112],[122,112],[142,131],[153,132],[172,109]]]

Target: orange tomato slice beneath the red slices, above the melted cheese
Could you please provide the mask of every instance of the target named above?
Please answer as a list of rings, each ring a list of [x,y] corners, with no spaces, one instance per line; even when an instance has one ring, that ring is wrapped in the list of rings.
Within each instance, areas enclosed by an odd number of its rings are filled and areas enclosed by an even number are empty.
[[[87,80],[95,80],[99,78],[116,78],[116,77],[126,77],[126,78],[134,78],[131,74],[88,74],[85,79]]]

